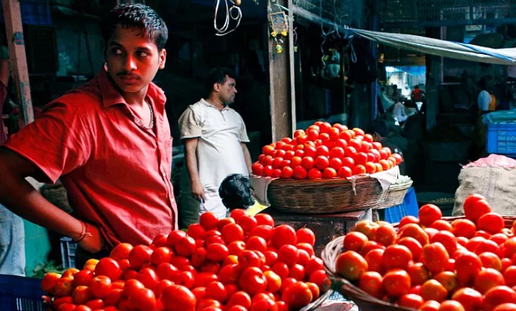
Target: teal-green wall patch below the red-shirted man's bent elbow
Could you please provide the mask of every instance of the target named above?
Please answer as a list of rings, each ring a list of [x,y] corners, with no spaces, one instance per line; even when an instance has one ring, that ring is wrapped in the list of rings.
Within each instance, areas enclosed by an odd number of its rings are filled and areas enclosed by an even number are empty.
[[[42,226],[24,220],[25,225],[25,273],[27,276],[33,274],[36,265],[47,262],[51,251],[49,233]]]

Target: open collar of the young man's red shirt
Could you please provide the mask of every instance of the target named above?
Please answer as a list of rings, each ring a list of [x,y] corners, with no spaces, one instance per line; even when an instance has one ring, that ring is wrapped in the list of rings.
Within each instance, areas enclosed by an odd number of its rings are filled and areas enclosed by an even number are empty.
[[[104,107],[107,108],[113,105],[126,103],[126,100],[124,97],[122,97],[122,94],[120,94],[118,89],[113,84],[113,81],[109,78],[108,73],[103,68],[95,76],[94,82],[96,82],[99,86],[102,105]],[[152,98],[154,105],[163,106],[167,100],[163,89],[160,89],[160,87],[155,85],[153,82],[149,84],[149,89],[147,89],[147,96]]]

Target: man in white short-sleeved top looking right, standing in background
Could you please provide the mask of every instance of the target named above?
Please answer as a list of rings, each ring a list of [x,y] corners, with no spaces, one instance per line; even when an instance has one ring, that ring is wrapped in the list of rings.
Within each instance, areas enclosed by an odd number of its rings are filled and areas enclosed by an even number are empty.
[[[245,145],[249,138],[244,121],[228,107],[237,92],[231,71],[214,69],[210,78],[210,95],[183,112],[179,127],[192,195],[200,202],[199,215],[210,211],[222,218],[227,209],[219,197],[219,186],[230,174],[249,175],[251,157]]]

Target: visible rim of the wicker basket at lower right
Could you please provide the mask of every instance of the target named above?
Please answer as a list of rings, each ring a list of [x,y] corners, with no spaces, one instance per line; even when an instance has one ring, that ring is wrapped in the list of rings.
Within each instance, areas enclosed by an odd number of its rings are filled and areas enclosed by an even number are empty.
[[[516,215],[501,215],[503,217],[503,221],[505,224],[505,227],[507,228],[510,226],[514,220],[516,220]],[[442,220],[446,220],[447,222],[453,222],[453,220],[458,219],[465,219],[465,216],[451,216],[451,217],[441,217]],[[397,229],[397,226],[399,223],[392,224],[395,229]],[[338,256],[342,252],[342,249],[344,247],[344,238],[346,236],[339,236],[338,238],[335,238],[328,242],[324,249],[322,250],[321,258],[323,260],[323,267],[326,271],[326,274],[331,279],[333,283],[339,284],[339,291],[344,295],[347,296],[348,299],[356,299],[357,301],[365,301],[367,303],[372,303],[374,305],[378,305],[378,307],[385,307],[385,308],[397,308],[399,311],[415,311],[416,309],[413,308],[406,308],[401,305],[397,305],[394,303],[390,303],[387,301],[383,301],[381,299],[377,299],[374,296],[371,296],[370,294],[367,294],[367,292],[364,292],[363,290],[360,290],[358,286],[352,284],[351,282],[347,281],[345,278],[342,278],[338,276],[335,269],[335,263],[337,261]],[[354,300],[353,300],[354,301]],[[356,302],[356,301],[355,301]],[[357,303],[357,304],[359,304]],[[360,307],[360,305],[359,305]]]

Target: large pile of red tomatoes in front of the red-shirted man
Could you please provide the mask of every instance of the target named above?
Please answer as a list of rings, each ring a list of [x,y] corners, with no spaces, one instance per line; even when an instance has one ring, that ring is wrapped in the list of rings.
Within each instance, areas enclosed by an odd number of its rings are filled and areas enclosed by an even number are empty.
[[[204,213],[188,231],[122,243],[41,285],[56,311],[293,311],[330,285],[314,243],[310,229],[274,226],[267,214]]]

